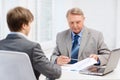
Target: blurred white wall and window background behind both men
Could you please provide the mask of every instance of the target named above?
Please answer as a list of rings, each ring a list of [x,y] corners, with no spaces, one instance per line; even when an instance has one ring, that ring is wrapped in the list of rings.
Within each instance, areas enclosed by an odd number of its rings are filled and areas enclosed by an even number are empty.
[[[101,31],[110,49],[120,47],[120,0],[0,0],[0,40],[9,33],[6,14],[16,6],[33,13],[29,39],[39,42],[48,55],[55,47],[57,33],[69,28],[66,12],[73,7],[83,10],[85,25]]]

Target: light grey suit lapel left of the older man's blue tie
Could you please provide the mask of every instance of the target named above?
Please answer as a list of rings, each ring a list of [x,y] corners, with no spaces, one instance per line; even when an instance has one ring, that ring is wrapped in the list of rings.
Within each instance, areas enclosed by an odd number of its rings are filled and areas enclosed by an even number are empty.
[[[66,37],[66,46],[67,46],[67,51],[68,51],[68,54],[69,54],[69,57],[71,56],[71,47],[72,47],[72,39],[71,39],[71,31],[68,30],[68,34],[67,34],[67,37]]]

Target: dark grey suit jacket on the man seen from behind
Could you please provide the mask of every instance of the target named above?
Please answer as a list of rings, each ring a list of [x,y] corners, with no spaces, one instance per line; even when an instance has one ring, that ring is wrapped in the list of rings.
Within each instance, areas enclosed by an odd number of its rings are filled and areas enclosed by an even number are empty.
[[[42,73],[49,78],[59,78],[60,66],[49,62],[40,45],[26,39],[20,34],[9,34],[6,39],[0,41],[0,50],[20,51],[29,55],[36,78]],[[13,67],[14,68],[14,67]]]

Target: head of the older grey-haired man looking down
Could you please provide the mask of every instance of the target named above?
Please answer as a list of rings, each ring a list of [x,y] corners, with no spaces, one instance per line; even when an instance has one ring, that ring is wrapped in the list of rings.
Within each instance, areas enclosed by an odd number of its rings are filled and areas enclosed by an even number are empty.
[[[78,34],[84,26],[85,17],[82,10],[79,8],[72,8],[68,10],[66,17],[67,17],[67,21],[70,29],[75,34]]]

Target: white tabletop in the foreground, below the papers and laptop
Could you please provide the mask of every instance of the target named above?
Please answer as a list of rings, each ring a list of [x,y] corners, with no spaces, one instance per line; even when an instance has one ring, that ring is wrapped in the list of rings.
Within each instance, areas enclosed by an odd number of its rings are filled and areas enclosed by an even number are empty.
[[[46,77],[41,75],[39,80],[46,80]],[[77,71],[62,70],[61,77],[56,80],[120,80],[120,61],[113,72],[104,76],[85,75]]]

